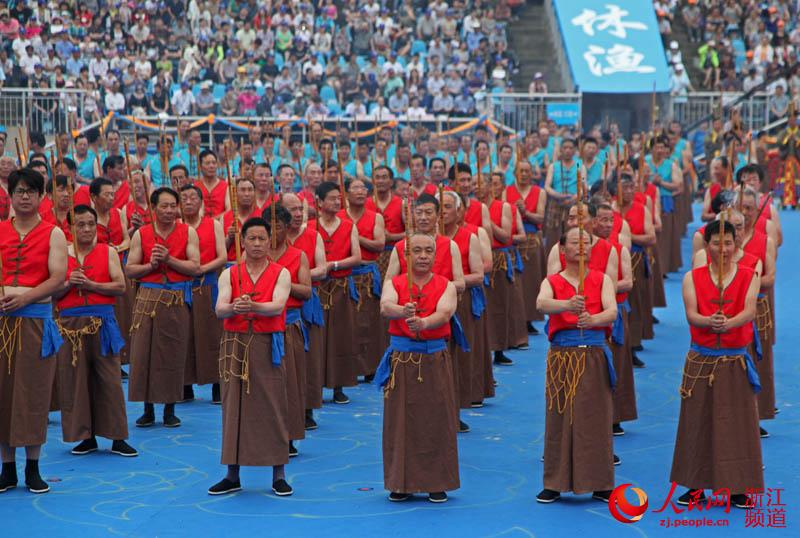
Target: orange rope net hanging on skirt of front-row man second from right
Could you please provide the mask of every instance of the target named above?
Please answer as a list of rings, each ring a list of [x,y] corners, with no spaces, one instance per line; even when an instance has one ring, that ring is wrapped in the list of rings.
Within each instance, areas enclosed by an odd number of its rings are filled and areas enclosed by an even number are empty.
[[[547,409],[563,415],[569,406],[569,423],[572,424],[573,404],[578,393],[583,372],[586,370],[586,350],[583,348],[550,348],[547,352],[545,394]]]

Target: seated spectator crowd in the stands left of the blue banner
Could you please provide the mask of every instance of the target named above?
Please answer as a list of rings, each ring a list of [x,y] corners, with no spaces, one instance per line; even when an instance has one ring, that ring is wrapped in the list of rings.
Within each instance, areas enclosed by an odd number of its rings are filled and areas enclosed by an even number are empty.
[[[109,111],[472,116],[517,69],[506,25],[520,3],[9,0],[0,85],[87,90],[78,124]]]

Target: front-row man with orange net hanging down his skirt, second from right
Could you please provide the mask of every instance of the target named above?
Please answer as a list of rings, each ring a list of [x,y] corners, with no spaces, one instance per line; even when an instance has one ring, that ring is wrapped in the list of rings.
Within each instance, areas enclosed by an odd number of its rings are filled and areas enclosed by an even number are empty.
[[[609,426],[616,375],[606,338],[617,303],[607,275],[588,264],[580,274],[580,242],[585,257],[592,251],[591,236],[582,234],[573,228],[562,236],[566,268],[542,281],[536,299],[539,310],[550,316],[544,489],[536,496],[541,503],[557,501],[563,491],[592,491],[594,498],[608,502],[614,489]]]

